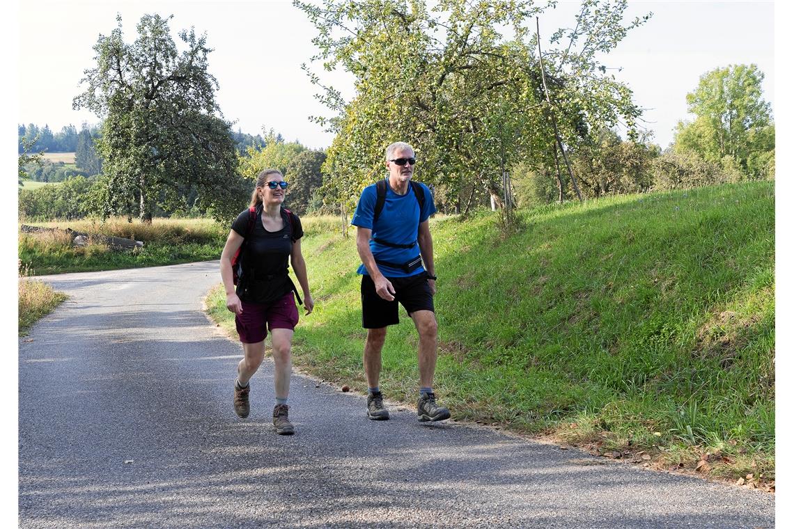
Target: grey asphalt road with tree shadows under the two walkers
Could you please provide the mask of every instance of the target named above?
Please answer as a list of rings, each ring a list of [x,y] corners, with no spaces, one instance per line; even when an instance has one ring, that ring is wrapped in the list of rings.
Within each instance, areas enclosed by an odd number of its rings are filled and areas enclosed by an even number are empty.
[[[44,279],[71,298],[19,340],[20,527],[774,526],[768,493],[410,410],[370,421],[300,376],[296,434],[276,435],[271,362],[234,414],[241,347],[201,309],[217,261]]]

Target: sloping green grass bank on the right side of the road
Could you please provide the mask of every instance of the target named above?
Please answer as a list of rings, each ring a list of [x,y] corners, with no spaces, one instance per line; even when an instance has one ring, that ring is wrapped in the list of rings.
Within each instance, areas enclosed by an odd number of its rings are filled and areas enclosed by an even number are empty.
[[[454,416],[599,451],[644,447],[660,464],[719,450],[773,476],[773,182],[549,205],[518,221],[511,236],[490,212],[431,222],[435,385]],[[363,392],[351,232],[306,225],[316,307],[295,365]],[[222,294],[208,304],[231,320]],[[410,402],[417,337],[402,314],[380,387]]]

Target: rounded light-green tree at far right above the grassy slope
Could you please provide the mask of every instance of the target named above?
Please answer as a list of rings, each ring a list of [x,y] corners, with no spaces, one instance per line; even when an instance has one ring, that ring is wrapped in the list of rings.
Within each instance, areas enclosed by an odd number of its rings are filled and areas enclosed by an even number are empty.
[[[694,151],[711,163],[730,156],[744,174],[761,176],[768,160],[763,153],[775,145],[771,107],[761,94],[763,79],[754,64],[703,74],[697,88],[687,94],[688,110],[695,120],[679,122],[674,150]]]

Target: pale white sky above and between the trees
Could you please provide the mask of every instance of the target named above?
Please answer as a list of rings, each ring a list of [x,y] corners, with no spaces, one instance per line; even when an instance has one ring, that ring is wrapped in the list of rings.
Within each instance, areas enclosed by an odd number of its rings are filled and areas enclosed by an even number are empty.
[[[544,40],[560,27],[572,27],[580,2],[559,2],[542,15]],[[633,29],[609,56],[605,66],[634,91],[646,109],[640,125],[654,132],[662,148],[687,114],[686,94],[700,76],[729,64],[754,63],[765,74],[764,98],[774,104],[773,2],[629,2],[626,18],[653,12],[645,25]],[[17,123],[47,124],[57,132],[64,125],[79,128],[97,123],[94,114],[71,109],[80,93],[83,71],[94,65],[93,46],[100,34],[116,27],[121,13],[125,40],[136,36],[144,13],[173,14],[171,29],[195,27],[206,32],[214,52],[209,65],[220,85],[218,104],[235,130],[249,134],[273,128],[287,140],[310,148],[326,148],[333,140],[309,121],[329,115],[316,99],[302,63],[309,63],[324,83],[353,96],[353,82],[344,72],[324,72],[310,59],[317,52],[316,35],[306,15],[291,2],[20,2]],[[548,48],[548,44],[545,45]]]

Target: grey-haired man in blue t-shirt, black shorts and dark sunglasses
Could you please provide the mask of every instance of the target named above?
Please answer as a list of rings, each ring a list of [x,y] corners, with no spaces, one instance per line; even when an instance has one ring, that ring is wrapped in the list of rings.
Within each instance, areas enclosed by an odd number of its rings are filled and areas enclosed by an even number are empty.
[[[358,273],[362,275],[361,320],[367,329],[364,343],[364,373],[369,386],[367,416],[372,420],[389,418],[378,386],[380,352],[387,326],[399,324],[398,303],[414,320],[419,333],[418,420],[449,419],[449,409],[437,405],[433,393],[437,358],[433,305],[436,276],[428,219],[436,212],[436,206],[427,186],[411,182],[415,164],[414,148],[409,144],[389,145],[388,176],[364,188],[351,221],[358,228],[356,245],[363,263]]]

